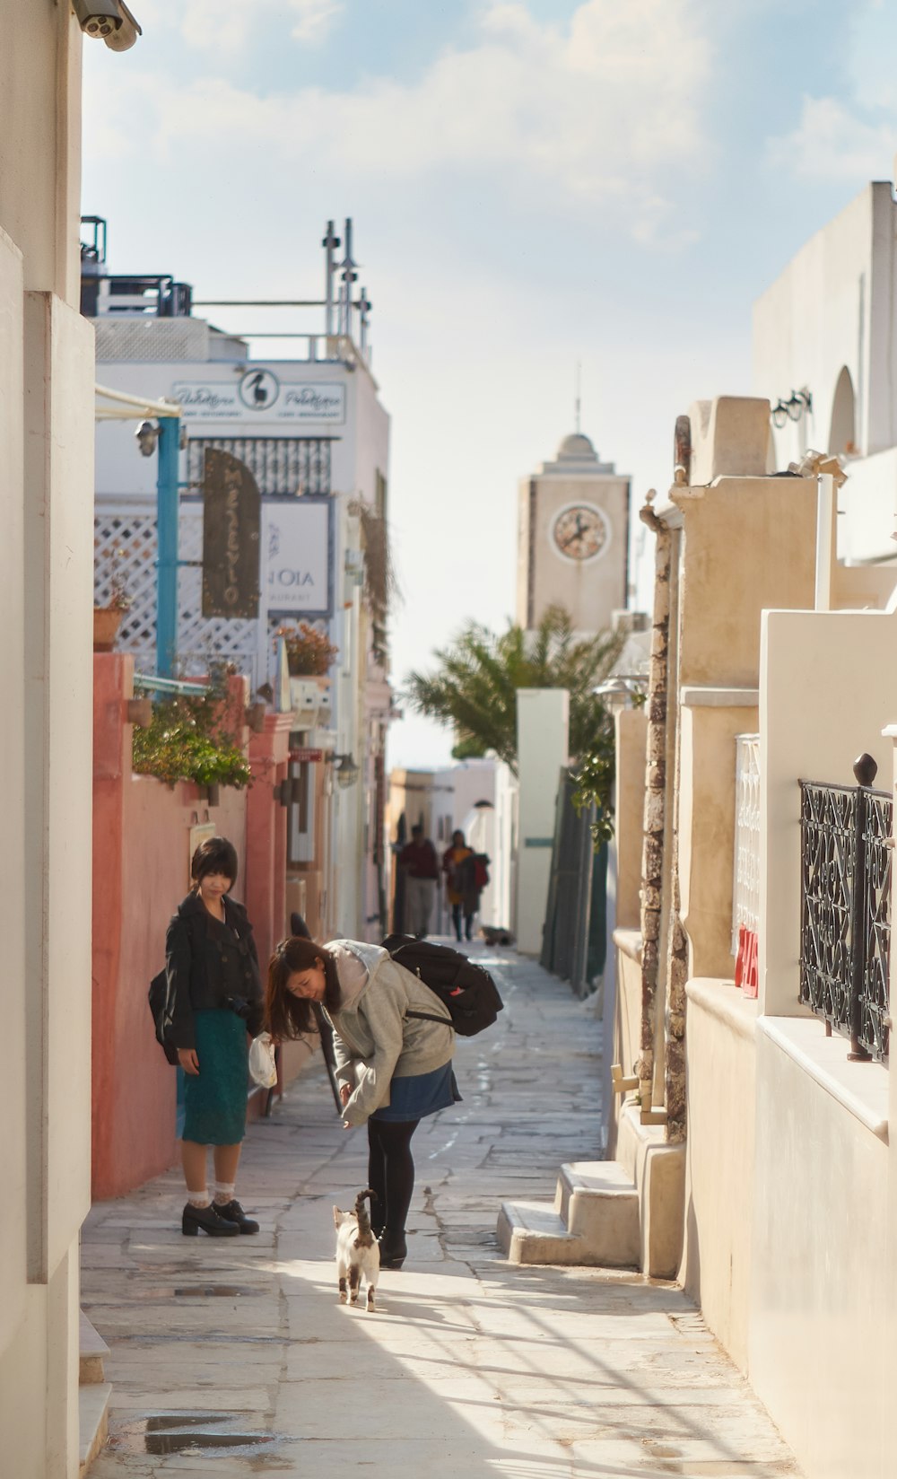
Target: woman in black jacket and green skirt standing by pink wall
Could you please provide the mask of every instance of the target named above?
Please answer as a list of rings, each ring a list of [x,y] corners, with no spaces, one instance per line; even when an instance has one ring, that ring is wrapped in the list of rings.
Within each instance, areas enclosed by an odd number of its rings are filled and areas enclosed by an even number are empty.
[[[259,1232],[235,1197],[245,1134],[247,1032],[262,1031],[262,981],[253,929],[229,890],[236,852],[210,837],[192,859],[194,887],[166,936],[171,1041],[186,1074],[182,1162],[188,1202],[182,1232],[213,1238]],[[207,1148],[214,1155],[214,1199],[207,1191]]]

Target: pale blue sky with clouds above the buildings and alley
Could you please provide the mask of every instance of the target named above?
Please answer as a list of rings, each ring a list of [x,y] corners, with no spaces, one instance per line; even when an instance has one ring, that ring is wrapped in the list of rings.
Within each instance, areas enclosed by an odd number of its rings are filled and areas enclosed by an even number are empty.
[[[513,618],[517,482],[573,429],[576,364],[582,430],[638,507],[695,399],[789,393],[754,385],[752,302],[894,173],[888,0],[132,9],[130,52],[84,44],[83,210],[112,272],[319,297],[325,222],[353,217],[392,416],[399,707],[467,620]],[[446,763],[451,734],[405,714],[390,763]]]

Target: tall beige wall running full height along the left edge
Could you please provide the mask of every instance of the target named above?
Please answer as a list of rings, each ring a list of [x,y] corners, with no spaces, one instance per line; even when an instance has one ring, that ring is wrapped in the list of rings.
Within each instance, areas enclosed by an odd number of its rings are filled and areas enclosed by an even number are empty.
[[[90,1199],[93,334],[78,315],[81,34],[0,0],[6,1115],[0,1452],[78,1472]],[[22,825],[24,816],[27,825]]]

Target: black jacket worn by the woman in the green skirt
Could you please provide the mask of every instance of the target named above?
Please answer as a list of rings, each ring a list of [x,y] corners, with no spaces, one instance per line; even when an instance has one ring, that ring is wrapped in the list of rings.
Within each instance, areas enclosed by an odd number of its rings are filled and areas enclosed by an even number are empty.
[[[253,926],[242,904],[225,895],[226,924],[216,920],[198,893],[188,893],[166,935],[167,1010],[176,1047],[195,1047],[194,1012],[232,1010],[228,998],[245,1001],[247,1031],[262,1031],[262,978]]]

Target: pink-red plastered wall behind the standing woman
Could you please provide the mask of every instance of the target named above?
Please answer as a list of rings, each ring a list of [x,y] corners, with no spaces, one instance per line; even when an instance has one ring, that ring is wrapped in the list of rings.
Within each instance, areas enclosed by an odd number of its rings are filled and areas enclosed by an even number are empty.
[[[132,658],[117,652],[95,655],[93,1195],[98,1199],[123,1195],[176,1160],[174,1069],[155,1041],[146,991],[164,964],[168,918],[188,892],[192,825],[211,821],[231,839],[241,861],[233,893],[248,899],[253,892],[251,873],[244,871],[253,791],[222,788],[220,806],[210,808],[195,785],[182,782],[171,790],[152,776],[133,775],[132,726],[126,722],[132,680]],[[242,686],[242,680],[233,682]],[[270,784],[260,790],[267,790],[272,812]],[[256,806],[259,802],[260,797]],[[263,865],[260,856],[256,870],[265,879],[259,905],[267,920],[273,859]],[[282,861],[279,877],[282,892]]]

